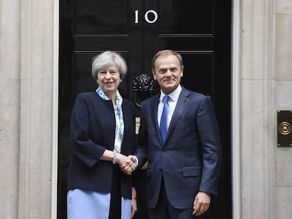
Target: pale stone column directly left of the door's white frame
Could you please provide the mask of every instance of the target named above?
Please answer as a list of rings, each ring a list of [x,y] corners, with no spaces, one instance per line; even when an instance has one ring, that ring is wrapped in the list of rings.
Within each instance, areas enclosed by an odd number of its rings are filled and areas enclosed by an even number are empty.
[[[18,218],[51,217],[54,1],[21,1]]]

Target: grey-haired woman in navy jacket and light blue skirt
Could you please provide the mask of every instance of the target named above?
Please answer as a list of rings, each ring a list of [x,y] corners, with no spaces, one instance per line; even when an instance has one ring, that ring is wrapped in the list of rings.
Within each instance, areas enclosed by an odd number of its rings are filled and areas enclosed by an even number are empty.
[[[92,77],[99,87],[96,92],[78,94],[75,100],[68,219],[128,219],[137,211],[131,176],[119,168],[135,149],[135,107],[118,92],[126,72],[119,54],[104,51],[92,63]]]

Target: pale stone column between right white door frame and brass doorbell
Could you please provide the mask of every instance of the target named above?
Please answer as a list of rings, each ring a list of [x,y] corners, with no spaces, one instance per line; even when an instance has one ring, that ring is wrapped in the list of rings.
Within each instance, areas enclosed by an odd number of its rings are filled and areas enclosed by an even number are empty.
[[[241,218],[274,217],[274,1],[243,4]]]

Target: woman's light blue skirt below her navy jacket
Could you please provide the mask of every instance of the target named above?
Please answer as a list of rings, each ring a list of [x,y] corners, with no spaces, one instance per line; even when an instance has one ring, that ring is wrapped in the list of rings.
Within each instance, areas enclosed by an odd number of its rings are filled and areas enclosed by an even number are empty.
[[[72,189],[67,194],[68,219],[109,218],[110,193]],[[131,201],[121,197],[121,219],[130,219]]]

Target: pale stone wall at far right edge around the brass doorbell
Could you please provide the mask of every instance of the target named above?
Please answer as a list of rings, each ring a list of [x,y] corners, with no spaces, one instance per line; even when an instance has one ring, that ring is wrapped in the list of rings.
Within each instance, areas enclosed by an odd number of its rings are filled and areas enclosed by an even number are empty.
[[[292,110],[292,1],[276,1],[275,108]],[[292,148],[274,147],[276,218],[292,215]]]

